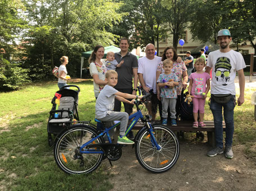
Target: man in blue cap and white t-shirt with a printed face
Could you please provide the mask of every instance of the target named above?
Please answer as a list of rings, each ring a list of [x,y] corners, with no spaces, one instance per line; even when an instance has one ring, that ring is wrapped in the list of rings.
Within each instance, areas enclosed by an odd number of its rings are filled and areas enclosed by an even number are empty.
[[[210,73],[212,69],[212,85],[210,109],[214,118],[215,148],[207,153],[207,156],[216,156],[225,151],[228,159],[233,158],[232,139],[233,139],[233,110],[236,106],[235,77],[236,72],[239,77],[240,95],[237,105],[244,103],[244,58],[239,52],[230,49],[232,40],[230,31],[222,29],[218,31],[219,50],[215,50],[208,55],[206,71]],[[225,150],[223,149],[223,127],[222,127],[222,108],[224,121],[226,123]]]

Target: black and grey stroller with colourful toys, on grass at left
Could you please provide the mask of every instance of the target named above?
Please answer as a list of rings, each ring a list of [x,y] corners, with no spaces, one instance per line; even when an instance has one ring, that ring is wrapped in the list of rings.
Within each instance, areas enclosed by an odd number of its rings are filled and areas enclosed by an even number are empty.
[[[75,90],[70,89],[75,87]],[[55,93],[52,99],[52,109],[47,124],[48,144],[53,145],[52,134],[56,136],[65,127],[79,121],[78,116],[78,94],[80,88],[75,85],[67,85],[62,87]]]

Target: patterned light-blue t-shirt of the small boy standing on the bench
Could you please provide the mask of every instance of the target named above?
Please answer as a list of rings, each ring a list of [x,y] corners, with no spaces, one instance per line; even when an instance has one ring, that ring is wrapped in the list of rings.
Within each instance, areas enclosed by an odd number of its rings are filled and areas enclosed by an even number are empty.
[[[166,80],[167,82],[169,80],[174,80],[174,82],[178,82],[178,77],[176,76],[175,73],[170,73],[170,74],[165,74],[161,73],[160,76],[158,77],[158,83],[163,83],[163,80]],[[173,88],[169,87],[161,87],[161,97],[164,98],[177,98],[177,92],[176,92],[176,87],[174,86]]]

